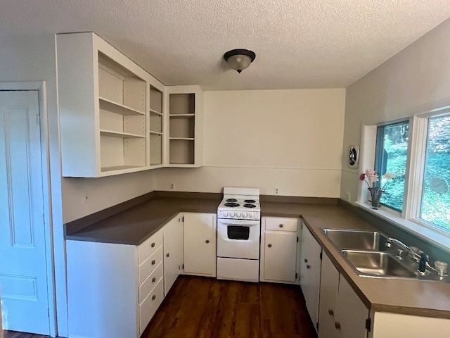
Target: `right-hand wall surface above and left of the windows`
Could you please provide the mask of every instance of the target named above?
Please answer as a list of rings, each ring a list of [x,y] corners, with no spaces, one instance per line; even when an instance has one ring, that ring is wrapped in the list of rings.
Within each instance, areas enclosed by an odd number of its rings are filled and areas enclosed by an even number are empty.
[[[362,125],[404,118],[450,104],[450,20],[347,88],[344,147],[361,142]],[[358,176],[342,158],[341,198],[355,200]]]

